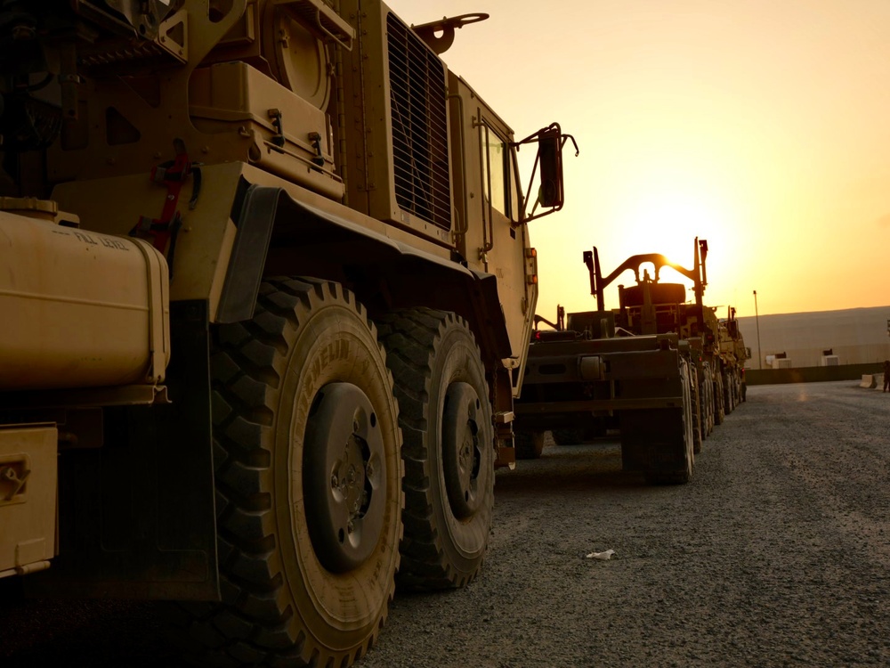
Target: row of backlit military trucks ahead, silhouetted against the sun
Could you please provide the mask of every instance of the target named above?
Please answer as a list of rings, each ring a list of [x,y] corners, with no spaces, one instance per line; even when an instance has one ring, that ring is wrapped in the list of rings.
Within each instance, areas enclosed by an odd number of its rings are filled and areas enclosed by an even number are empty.
[[[597,310],[566,318],[558,308],[555,323],[536,317],[555,326],[531,342],[516,405],[519,457],[539,456],[548,429],[558,444],[617,429],[626,470],[654,484],[692,477],[702,440],[740,397],[745,359],[738,327],[703,304],[707,256],[708,242],[696,239],[692,269],[651,253],[603,276],[597,249],[585,251]],[[683,283],[660,281],[664,267],[692,281],[692,303]],[[604,289],[627,271],[636,284],[619,285],[619,308],[606,310]]]

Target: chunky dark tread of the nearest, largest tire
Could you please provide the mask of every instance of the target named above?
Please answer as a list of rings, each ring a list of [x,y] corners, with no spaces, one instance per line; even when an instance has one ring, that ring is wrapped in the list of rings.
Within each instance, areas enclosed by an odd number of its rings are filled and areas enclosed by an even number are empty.
[[[284,278],[263,283],[252,321],[223,324],[216,332],[211,401],[223,604],[175,604],[180,613],[175,633],[198,641],[198,647],[191,642],[193,651],[185,657],[196,664],[300,666],[320,659],[317,649],[306,656],[305,633],[282,595],[267,443],[280,379],[276,360],[287,353],[286,330],[298,328],[319,300],[328,299],[352,305],[375,331],[364,306],[338,283]],[[394,583],[389,600],[393,593]],[[382,621],[357,656],[376,641]],[[334,656],[328,659],[335,663]],[[344,657],[336,661],[350,663]]]

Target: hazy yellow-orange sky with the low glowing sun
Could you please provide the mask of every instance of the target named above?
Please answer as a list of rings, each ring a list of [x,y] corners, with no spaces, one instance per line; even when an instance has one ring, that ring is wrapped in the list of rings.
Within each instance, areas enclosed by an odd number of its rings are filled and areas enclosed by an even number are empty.
[[[490,14],[442,59],[517,138],[556,121],[578,142],[565,206],[530,223],[538,314],[595,309],[584,250],[603,273],[643,253],[691,268],[696,237],[718,314],[890,305],[890,2],[387,4],[409,24]]]

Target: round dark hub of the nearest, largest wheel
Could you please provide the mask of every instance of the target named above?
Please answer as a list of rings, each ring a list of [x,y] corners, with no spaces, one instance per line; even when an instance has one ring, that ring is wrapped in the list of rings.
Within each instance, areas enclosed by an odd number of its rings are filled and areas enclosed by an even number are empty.
[[[303,450],[306,522],[322,566],[344,573],[373,553],[384,525],[384,439],[368,396],[352,383],[322,387]]]

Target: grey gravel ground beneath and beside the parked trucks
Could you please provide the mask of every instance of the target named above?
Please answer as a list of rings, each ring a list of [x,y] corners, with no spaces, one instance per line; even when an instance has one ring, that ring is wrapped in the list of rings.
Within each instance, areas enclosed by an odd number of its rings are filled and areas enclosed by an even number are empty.
[[[481,577],[398,595],[360,668],[890,665],[888,461],[890,395],[852,381],[749,387],[689,485],[547,447],[498,472]],[[150,604],[2,597],[4,665],[174,663]]]

